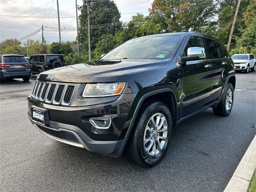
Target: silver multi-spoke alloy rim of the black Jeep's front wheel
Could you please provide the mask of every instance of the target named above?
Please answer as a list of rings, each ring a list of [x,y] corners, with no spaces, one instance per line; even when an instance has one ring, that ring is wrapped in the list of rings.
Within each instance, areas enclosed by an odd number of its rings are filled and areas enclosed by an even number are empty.
[[[149,156],[159,155],[166,142],[168,135],[168,125],[162,113],[153,114],[144,131],[144,150]]]

